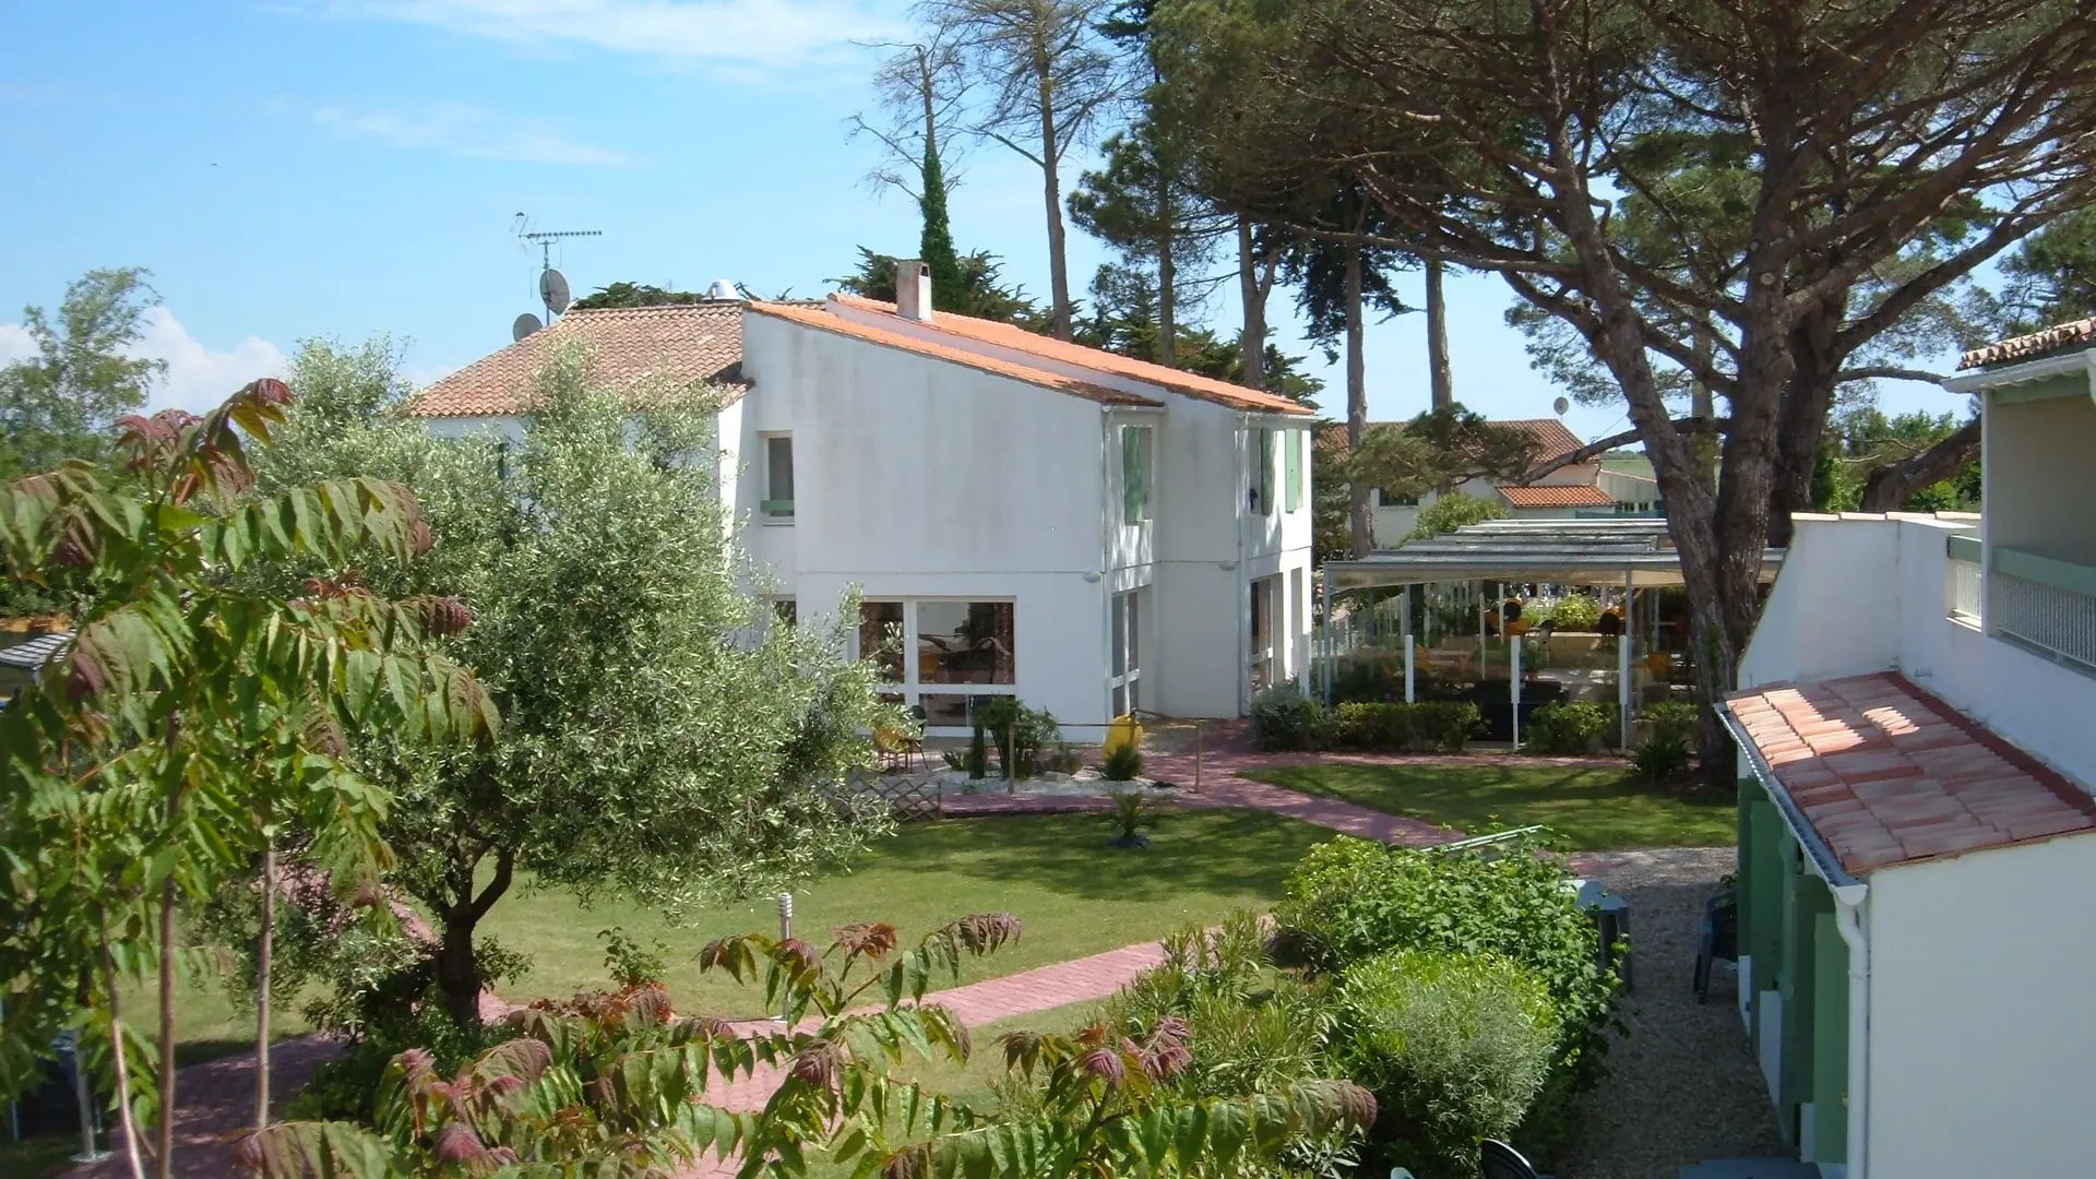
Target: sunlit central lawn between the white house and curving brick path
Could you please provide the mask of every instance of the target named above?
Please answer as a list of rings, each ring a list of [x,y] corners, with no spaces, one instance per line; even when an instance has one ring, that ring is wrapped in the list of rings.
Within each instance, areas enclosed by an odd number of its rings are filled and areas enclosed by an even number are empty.
[[[849,873],[794,889],[794,934],[817,948],[830,929],[887,921],[905,946],[968,913],[1012,913],[1023,934],[960,982],[1082,959],[1151,942],[1188,923],[1214,925],[1237,908],[1268,908],[1312,843],[1331,833],[1258,810],[1193,810],[1165,818],[1147,850],[1115,850],[1098,814],[1050,814],[918,822],[876,843]],[[591,908],[553,889],[520,889],[482,921],[482,936],[532,959],[532,971],[497,988],[503,999],[566,996],[608,986],[599,931],[625,927],[643,944],[669,944],[671,996],[679,1011],[761,1015],[763,986],[700,973],[698,950],[725,934],[778,936],[778,902],[725,906],[673,927],[656,910],[625,902]],[[935,988],[954,986],[941,976]]]

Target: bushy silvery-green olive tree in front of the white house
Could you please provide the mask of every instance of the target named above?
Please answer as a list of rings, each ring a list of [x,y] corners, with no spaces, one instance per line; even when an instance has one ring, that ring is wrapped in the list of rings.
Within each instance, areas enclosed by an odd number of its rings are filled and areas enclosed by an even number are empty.
[[[786,625],[759,596],[715,493],[706,388],[618,396],[564,352],[520,438],[444,441],[405,415],[388,361],[310,344],[268,476],[413,487],[430,558],[365,575],[474,610],[449,650],[501,707],[501,741],[358,745],[396,797],[392,881],[436,919],[453,1020],[476,1020],[476,929],[526,875],[675,913],[834,862],[885,822],[830,789],[872,764],[861,734],[891,722],[874,673],[840,627]]]

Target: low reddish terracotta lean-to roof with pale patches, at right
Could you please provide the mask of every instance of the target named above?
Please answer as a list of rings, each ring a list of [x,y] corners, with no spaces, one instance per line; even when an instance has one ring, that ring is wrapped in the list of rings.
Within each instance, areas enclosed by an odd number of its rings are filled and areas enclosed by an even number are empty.
[[[2096,799],[1899,673],[1727,705],[1851,873],[2096,829]]]

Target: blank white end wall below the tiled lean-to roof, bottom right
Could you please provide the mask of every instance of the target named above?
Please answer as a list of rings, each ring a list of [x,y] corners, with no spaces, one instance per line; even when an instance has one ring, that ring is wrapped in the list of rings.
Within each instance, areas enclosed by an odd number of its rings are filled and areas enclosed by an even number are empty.
[[[1870,877],[1870,1175],[2088,1175],[2096,839]]]

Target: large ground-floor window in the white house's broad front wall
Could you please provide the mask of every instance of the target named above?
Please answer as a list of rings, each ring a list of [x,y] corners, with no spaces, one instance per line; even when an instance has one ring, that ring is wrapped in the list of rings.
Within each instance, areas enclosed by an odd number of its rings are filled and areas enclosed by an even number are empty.
[[[876,663],[897,703],[924,709],[926,726],[968,728],[985,699],[1008,696],[1019,682],[1014,610],[1014,602],[859,602],[859,657]]]

